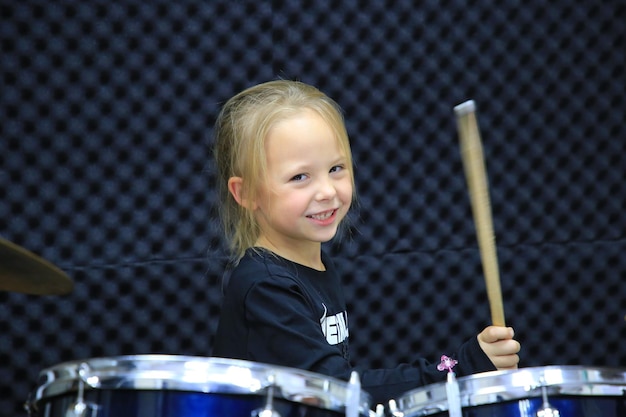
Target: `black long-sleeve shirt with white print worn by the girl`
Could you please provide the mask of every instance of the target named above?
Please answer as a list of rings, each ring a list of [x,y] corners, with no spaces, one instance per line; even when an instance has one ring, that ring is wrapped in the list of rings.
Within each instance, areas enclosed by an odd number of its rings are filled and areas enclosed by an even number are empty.
[[[226,286],[213,355],[244,359],[349,380],[375,403],[411,389],[445,381],[446,373],[424,358],[390,369],[351,365],[348,318],[339,275],[324,254],[325,271],[291,262],[263,249],[249,249]],[[453,355],[457,376],[495,370],[476,337]]]

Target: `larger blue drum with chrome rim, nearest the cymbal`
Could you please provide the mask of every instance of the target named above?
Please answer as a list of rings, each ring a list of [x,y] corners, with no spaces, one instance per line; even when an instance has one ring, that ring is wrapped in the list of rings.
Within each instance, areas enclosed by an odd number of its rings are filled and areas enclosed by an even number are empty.
[[[352,415],[370,414],[369,395],[354,385],[234,359],[93,358],[44,369],[40,379],[28,404],[32,416],[334,417],[346,415],[348,397]]]

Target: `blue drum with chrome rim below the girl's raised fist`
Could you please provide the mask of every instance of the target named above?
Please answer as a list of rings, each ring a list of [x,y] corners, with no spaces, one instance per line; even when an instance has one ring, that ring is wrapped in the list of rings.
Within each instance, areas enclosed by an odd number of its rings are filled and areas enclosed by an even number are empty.
[[[464,417],[626,416],[626,368],[520,368],[457,382]],[[393,417],[447,416],[446,383],[412,390],[389,401],[387,411]]]

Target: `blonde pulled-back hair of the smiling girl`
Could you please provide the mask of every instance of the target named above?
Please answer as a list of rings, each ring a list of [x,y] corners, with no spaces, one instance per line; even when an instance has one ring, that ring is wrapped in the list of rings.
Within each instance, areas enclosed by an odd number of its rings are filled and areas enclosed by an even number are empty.
[[[224,104],[214,131],[214,158],[217,164],[220,217],[235,258],[259,237],[254,213],[238,204],[228,190],[231,177],[242,178],[242,192],[255,200],[266,173],[265,139],[279,121],[305,109],[313,110],[334,131],[339,147],[348,159],[354,188],[354,170],[348,133],[339,105],[317,88],[299,81],[277,80],[250,87]]]

